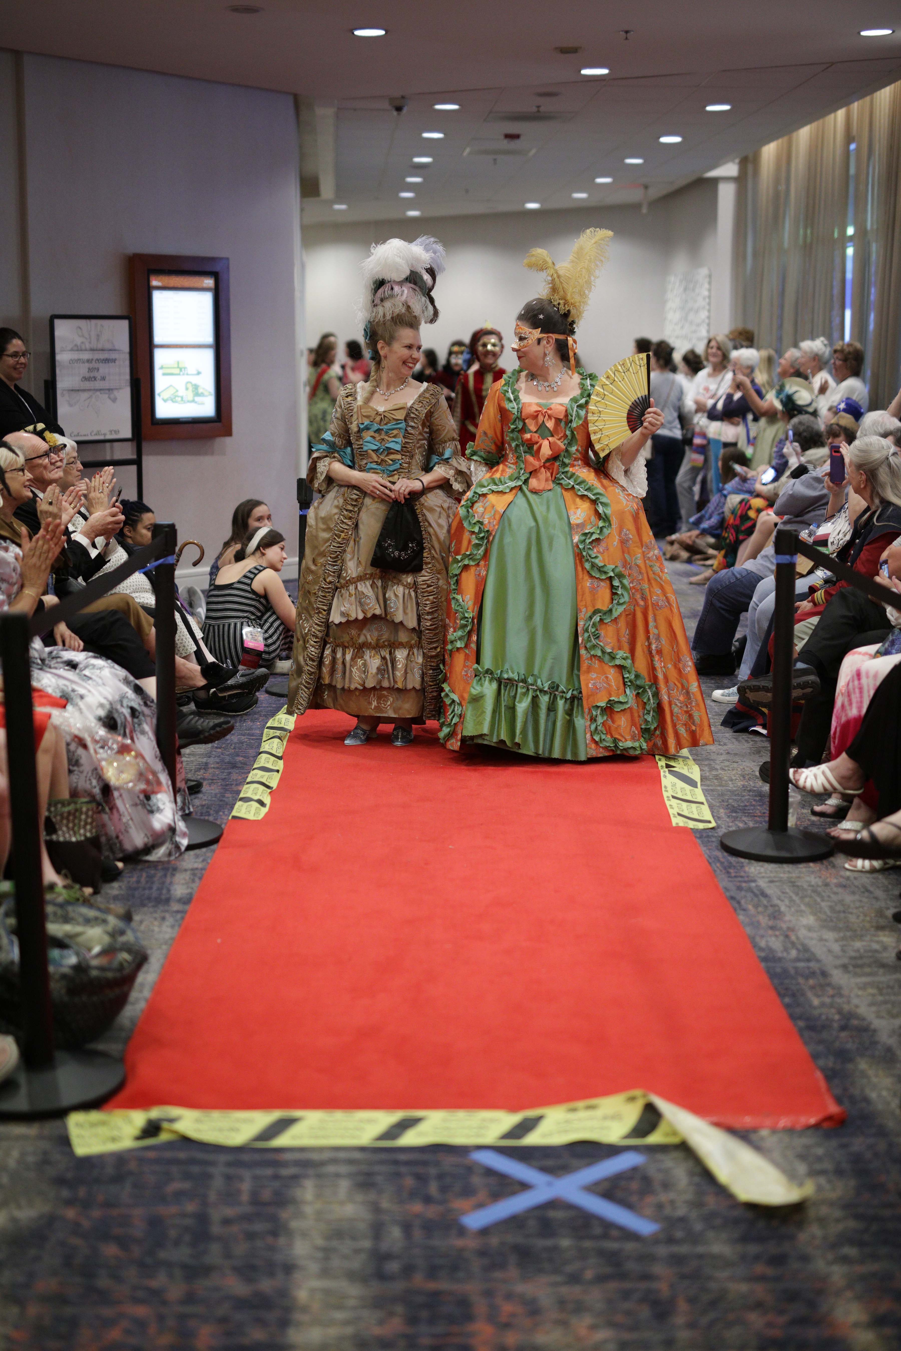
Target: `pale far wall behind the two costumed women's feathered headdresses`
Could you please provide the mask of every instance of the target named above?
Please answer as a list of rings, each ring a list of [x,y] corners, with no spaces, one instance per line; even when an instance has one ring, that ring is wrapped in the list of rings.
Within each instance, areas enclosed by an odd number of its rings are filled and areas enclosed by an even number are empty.
[[[665,278],[671,272],[709,266],[713,305],[717,300],[717,184],[698,180],[651,203],[647,215],[638,207],[598,212],[542,211],[490,216],[448,216],[404,220],[392,230],[376,224],[308,226],[307,334],[313,343],[331,328],[340,342],[359,338],[355,311],[359,301],[359,262],[374,239],[401,234],[435,234],[447,249],[447,272],[435,292],[440,319],[423,330],[423,342],[444,357],[454,338],[467,339],[484,322],[505,338],[520,305],[535,295],[538,278],[523,269],[523,258],[536,245],[562,261],[588,226],[613,231],[611,261],[601,273],[592,304],[580,328],[580,353],[586,366],[602,372],[632,350],[639,334],[658,338],[663,331]],[[504,362],[512,354],[505,349]]]

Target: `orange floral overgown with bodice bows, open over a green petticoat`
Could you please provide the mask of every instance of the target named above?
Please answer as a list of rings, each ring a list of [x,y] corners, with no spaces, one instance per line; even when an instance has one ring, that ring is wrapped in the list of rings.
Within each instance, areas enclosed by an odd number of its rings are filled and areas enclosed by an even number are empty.
[[[586,408],[594,377],[582,373],[580,393],[565,409],[547,408],[531,419],[554,424],[554,436],[542,442],[531,430],[528,408],[524,419],[520,374],[511,372],[488,396],[469,453],[489,471],[462,500],[451,527],[442,740],[450,750],[467,740],[466,708],[477,680],[480,686],[496,686],[498,701],[513,689],[520,700],[531,698],[539,721],[544,716],[539,704],[567,696],[567,708],[578,705],[584,719],[588,759],[673,755],[712,743],[682,615],[639,496],[643,465],[624,470],[615,453],[601,469],[592,465]],[[555,689],[538,671],[480,666],[480,608],[492,543],[523,492],[562,492],[575,566],[575,690]],[[523,626],[530,616],[511,613],[503,623]],[[524,720],[528,716],[527,711]]]

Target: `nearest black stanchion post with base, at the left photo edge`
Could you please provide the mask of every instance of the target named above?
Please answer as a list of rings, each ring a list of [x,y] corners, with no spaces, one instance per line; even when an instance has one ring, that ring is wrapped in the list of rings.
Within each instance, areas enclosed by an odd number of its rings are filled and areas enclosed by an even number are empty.
[[[0,620],[23,1031],[22,1063],[0,1084],[0,1119],[62,1116],[96,1106],[126,1078],[122,1061],[111,1055],[61,1051],[53,1044],[28,642],[27,615]]]

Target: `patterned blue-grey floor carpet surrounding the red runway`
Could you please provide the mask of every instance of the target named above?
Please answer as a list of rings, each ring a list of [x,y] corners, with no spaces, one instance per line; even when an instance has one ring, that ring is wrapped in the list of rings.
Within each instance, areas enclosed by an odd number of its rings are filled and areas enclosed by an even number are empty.
[[[690,632],[702,597],[686,585],[689,566],[671,573]],[[702,684],[709,694],[720,682]],[[262,696],[232,736],[186,753],[188,771],[204,780],[199,815],[227,819],[278,707]],[[901,931],[892,912],[901,873],[859,877],[835,859],[794,869],[724,854],[719,830],[766,819],[756,769],[767,743],[723,731],[723,708],[709,709],[717,744],[696,759],[719,828],[698,842],[848,1111],[835,1131],[752,1136],[790,1177],[813,1178],[805,1206],[742,1206],[688,1151],[662,1148],[601,1185],[659,1223],[651,1238],[562,1202],[467,1233],[462,1212],[519,1183],[465,1150],[178,1143],[77,1161],[61,1123],[4,1124],[0,1346],[896,1351]],[[806,804],[798,811],[802,820]],[[128,897],[151,961],[105,1046],[124,1044],[209,857],[132,866],[107,889]],[[602,867],[601,857],[598,877]],[[266,886],[263,858],[257,885]],[[240,1062],[240,1044],[234,1055]],[[611,1152],[570,1146],[520,1156],[563,1174]]]

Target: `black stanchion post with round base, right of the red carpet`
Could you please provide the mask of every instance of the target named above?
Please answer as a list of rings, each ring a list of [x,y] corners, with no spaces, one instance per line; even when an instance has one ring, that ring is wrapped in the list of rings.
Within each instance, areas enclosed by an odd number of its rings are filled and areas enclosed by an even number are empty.
[[[727,831],[727,854],[758,863],[813,863],[833,852],[828,835],[789,827],[789,759],[792,757],[792,669],[794,651],[794,565],[798,532],[775,532],[775,608],[773,643],[773,703],[770,704],[770,815],[767,827]]]

